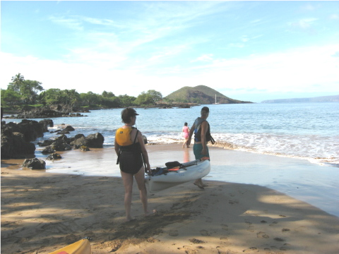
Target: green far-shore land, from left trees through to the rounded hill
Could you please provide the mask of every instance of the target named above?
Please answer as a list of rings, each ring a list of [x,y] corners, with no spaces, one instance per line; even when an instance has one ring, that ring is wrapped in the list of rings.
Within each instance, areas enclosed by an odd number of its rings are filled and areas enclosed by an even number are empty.
[[[157,104],[166,103],[213,104],[215,103],[215,95],[220,104],[249,103],[230,99],[206,85],[182,87],[163,98],[162,94],[155,90],[141,92],[138,97],[129,95],[116,96],[113,92],[107,91],[99,95],[94,92],[79,93],[75,89],[60,90],[59,88],[51,88],[44,90],[41,82],[25,80],[24,76],[20,73],[14,75],[11,81],[6,90],[1,89],[1,107],[5,110],[27,110],[31,107],[42,107],[52,104],[90,108],[152,107]]]

